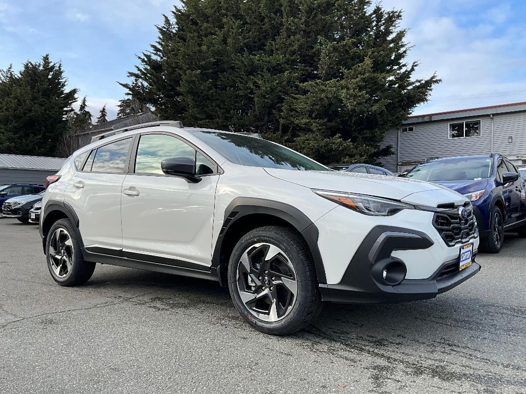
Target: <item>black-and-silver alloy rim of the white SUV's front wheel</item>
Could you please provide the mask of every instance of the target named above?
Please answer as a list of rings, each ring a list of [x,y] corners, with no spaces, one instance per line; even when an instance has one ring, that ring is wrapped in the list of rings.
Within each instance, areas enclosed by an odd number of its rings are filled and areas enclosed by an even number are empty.
[[[291,312],[296,302],[296,271],[279,247],[258,243],[241,255],[237,289],[252,315],[266,322],[277,322]]]

